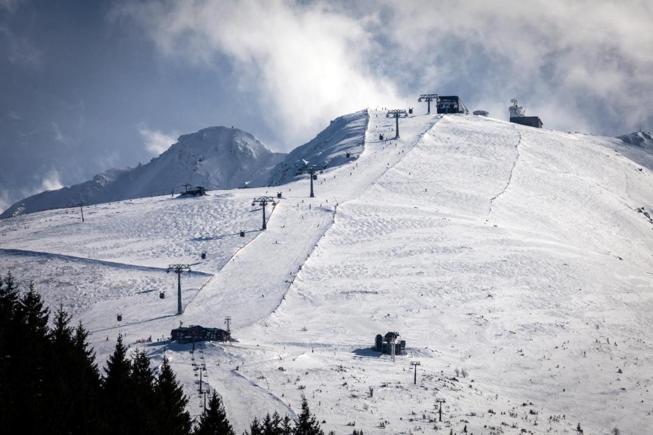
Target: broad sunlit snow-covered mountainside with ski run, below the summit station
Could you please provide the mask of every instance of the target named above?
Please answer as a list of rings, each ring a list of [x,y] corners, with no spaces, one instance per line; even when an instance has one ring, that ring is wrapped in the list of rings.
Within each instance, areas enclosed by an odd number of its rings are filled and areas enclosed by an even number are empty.
[[[7,219],[0,264],[35,278],[52,304],[61,290],[40,274],[48,253],[76,257],[50,255],[48,276],[61,280],[67,261],[82,288],[130,277],[121,293],[75,306],[97,331],[100,361],[118,330],[133,343],[168,336],[179,321],[221,327],[231,315],[238,342],[198,344],[193,354],[190,345],[146,349],[153,362],[165,351],[193,414],[202,404],[193,369],[204,364],[238,432],[253,415],[293,415],[306,395],[323,428],[340,434],[572,432],[577,423],[586,434],[646,433],[653,225],[637,208],[651,212],[653,186],[636,163],[646,155],[628,148],[626,158],[614,139],[477,116],[402,118],[401,138],[380,141],[394,137],[394,120],[369,117],[364,151],[319,174],[314,199],[305,179],[103,204],[83,227],[61,210]],[[257,231],[251,198],[277,191],[283,199]],[[133,233],[140,216],[150,233]],[[117,242],[107,249],[106,240]],[[199,263],[184,278],[193,288],[179,317],[174,276],[136,267],[167,262]],[[199,272],[214,276],[205,283]],[[138,293],[164,285],[165,300]],[[125,306],[130,297],[140,299]],[[130,321],[118,323],[126,308]],[[407,341],[396,362],[368,349],[388,330]],[[436,396],[447,400],[438,430]]]

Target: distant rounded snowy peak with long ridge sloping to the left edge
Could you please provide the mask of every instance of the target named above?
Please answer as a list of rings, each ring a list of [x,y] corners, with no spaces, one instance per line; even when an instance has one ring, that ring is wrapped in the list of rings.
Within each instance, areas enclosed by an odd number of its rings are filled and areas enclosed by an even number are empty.
[[[179,193],[185,183],[206,189],[264,185],[270,169],[285,157],[273,153],[246,131],[208,127],[178,142],[146,165],[110,169],[93,180],[22,199],[0,218],[48,208],[121,201]]]

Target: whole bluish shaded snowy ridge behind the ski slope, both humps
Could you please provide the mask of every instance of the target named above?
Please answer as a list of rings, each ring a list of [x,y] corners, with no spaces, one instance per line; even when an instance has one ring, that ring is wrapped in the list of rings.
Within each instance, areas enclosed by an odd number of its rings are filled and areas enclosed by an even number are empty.
[[[210,190],[283,184],[298,175],[306,162],[325,168],[357,158],[363,149],[367,120],[366,110],[341,116],[289,155],[270,151],[246,131],[208,127],[179,137],[145,165],[109,169],[87,182],[22,199],[0,214],[0,219],[79,202],[101,204],[170,195],[183,191],[185,183]],[[347,152],[351,157],[346,157]]]

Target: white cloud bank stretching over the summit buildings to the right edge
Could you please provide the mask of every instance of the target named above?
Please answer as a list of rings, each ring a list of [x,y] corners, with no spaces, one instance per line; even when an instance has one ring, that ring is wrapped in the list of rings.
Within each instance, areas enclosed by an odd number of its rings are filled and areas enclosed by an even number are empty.
[[[225,80],[255,95],[289,146],[421,92],[490,102],[503,119],[520,97],[549,127],[599,133],[653,114],[650,1],[146,0],[110,16],[175,61],[211,68],[226,56]]]

